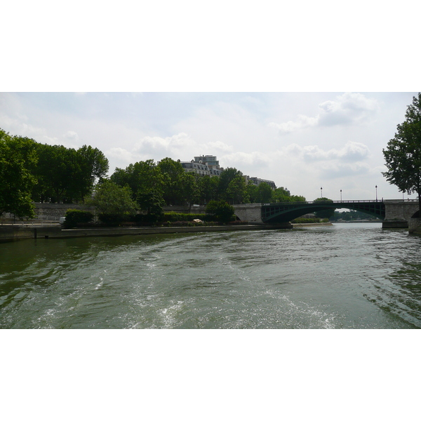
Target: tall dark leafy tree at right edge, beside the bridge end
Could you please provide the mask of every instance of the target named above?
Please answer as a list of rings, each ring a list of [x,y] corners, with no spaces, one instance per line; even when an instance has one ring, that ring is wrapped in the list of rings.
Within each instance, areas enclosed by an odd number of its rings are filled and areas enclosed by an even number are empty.
[[[421,210],[421,93],[413,97],[405,117],[383,149],[388,171],[382,175],[401,192],[416,192]]]

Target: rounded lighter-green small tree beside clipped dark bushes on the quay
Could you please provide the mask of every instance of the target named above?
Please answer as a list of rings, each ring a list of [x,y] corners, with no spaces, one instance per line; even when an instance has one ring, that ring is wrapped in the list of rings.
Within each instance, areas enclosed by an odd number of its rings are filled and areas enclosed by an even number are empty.
[[[110,180],[98,183],[93,197],[86,199],[86,204],[95,206],[99,213],[112,215],[117,220],[124,220],[134,215],[138,208],[132,199],[130,187],[121,187]]]

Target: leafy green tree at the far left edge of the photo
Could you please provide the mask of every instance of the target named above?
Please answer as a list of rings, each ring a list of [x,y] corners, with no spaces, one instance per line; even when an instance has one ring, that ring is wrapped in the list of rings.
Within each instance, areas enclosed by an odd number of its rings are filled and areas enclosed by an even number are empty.
[[[0,129],[0,215],[34,216],[31,191],[36,178],[31,169],[36,165],[35,142],[11,136]]]

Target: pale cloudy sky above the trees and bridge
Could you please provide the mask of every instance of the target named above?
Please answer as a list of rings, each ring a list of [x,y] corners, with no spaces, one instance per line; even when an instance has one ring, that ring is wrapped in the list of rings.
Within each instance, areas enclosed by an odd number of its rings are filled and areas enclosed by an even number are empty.
[[[216,155],[308,201],[401,199],[382,149],[416,92],[4,92],[0,128],[130,163]],[[404,194],[405,198],[408,198]],[[415,199],[415,196],[410,197]]]

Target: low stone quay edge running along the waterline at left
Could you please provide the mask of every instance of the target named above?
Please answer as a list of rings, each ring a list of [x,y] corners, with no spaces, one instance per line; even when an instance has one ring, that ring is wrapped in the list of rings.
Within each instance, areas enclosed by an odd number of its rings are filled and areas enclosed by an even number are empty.
[[[253,225],[218,225],[213,227],[109,227],[109,228],[73,228],[22,227],[3,225],[0,227],[0,242],[23,239],[63,239],[95,236],[123,236],[147,234],[175,234],[180,232],[221,232],[250,231],[256,229],[291,229],[292,224],[253,224]]]

